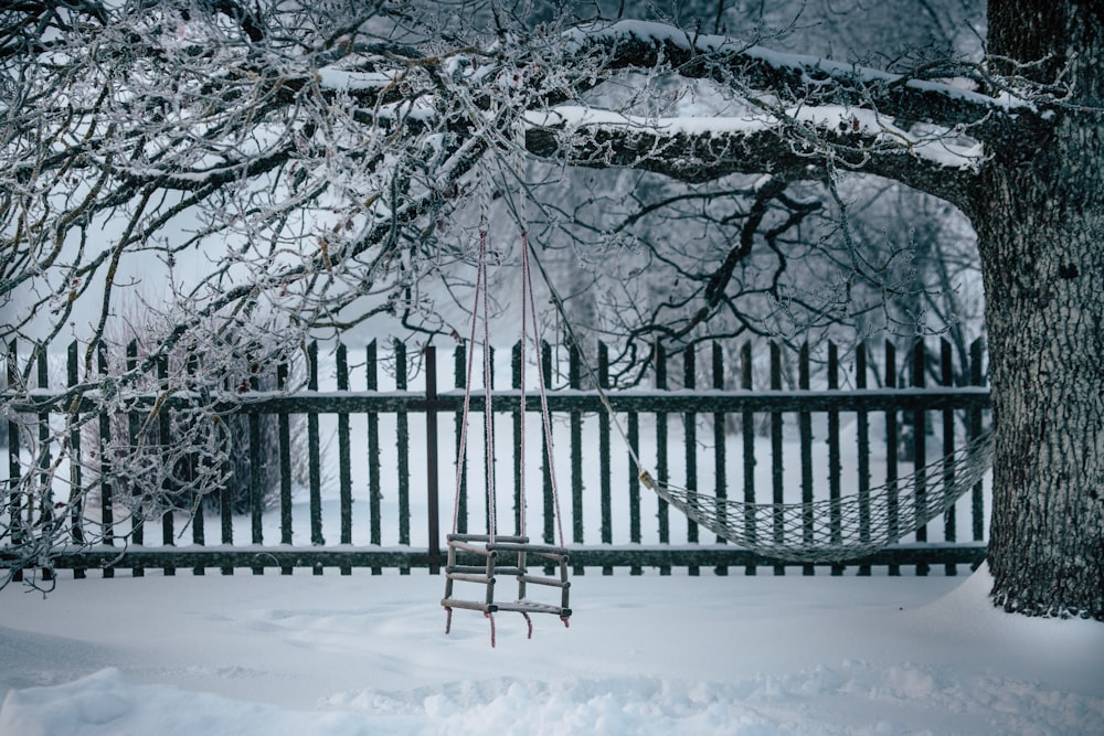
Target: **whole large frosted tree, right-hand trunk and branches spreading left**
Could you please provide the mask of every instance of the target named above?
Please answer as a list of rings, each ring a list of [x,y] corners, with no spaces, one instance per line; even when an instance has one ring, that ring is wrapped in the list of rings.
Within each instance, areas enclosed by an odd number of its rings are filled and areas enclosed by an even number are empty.
[[[93,352],[114,295],[140,280],[125,268],[132,254],[156,259],[169,298],[149,306],[169,308],[149,358],[110,377],[120,391],[179,345],[241,324],[285,346],[373,314],[433,330],[447,310],[426,278],[463,286],[479,232],[493,222],[500,238],[505,215],[538,252],[570,246],[585,263],[603,247],[686,274],[673,295],[624,275],[630,294],[668,300],[641,301],[639,323],[618,327],[649,341],[746,320],[745,291],[790,308],[795,327],[816,323],[826,305],[854,303],[854,284],[892,288],[887,250],[871,257],[853,226],[862,198],[849,189],[852,177],[881,178],[947,203],[976,231],[995,601],[1104,619],[1098,3],[992,0],[977,57],[830,61],[760,45],[786,36],[765,15],[745,33],[735,6],[710,4],[712,29],[730,34],[712,35],[700,15],[619,19],[625,4],[88,0],[4,11],[6,337],[87,335],[73,391],[92,396],[108,385]],[[618,190],[596,175],[611,170]],[[593,205],[564,206],[564,191],[592,175],[592,192],[633,196],[619,210],[593,193]],[[666,222],[652,222],[659,207]],[[805,237],[821,212],[835,256]],[[668,249],[672,220],[703,247]],[[612,230],[628,225],[618,242]],[[503,259],[517,241],[499,241]],[[184,274],[185,255],[204,267]],[[840,266],[821,299],[782,296],[795,258]],[[92,319],[74,311],[89,297]]]

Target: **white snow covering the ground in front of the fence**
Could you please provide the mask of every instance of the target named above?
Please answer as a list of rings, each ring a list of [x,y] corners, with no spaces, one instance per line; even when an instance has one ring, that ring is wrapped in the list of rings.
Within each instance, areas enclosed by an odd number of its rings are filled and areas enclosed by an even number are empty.
[[[425,570],[213,572],[0,591],[0,734],[1104,734],[1104,625],[1002,614],[984,567],[588,570],[493,649]]]

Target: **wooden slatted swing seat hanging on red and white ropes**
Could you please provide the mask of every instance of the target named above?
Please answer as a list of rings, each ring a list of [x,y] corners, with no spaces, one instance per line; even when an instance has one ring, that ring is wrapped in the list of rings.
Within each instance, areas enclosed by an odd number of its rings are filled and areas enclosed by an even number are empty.
[[[529,242],[524,231],[521,232],[521,363],[524,365],[526,346],[528,342],[528,322],[532,320],[533,343],[538,345],[537,338],[537,314],[532,295],[532,278],[529,270]],[[520,413],[521,422],[521,444],[518,448],[520,461],[519,472],[519,509],[518,509],[518,533],[512,535],[500,535],[497,533],[495,514],[495,473],[492,463],[493,452],[493,422],[491,417],[491,392],[490,392],[490,327],[489,310],[487,302],[487,231],[479,233],[479,263],[476,275],[476,303],[471,312],[471,334],[468,340],[467,355],[467,380],[464,390],[464,414],[460,425],[460,442],[456,462],[456,501],[453,511],[453,532],[446,536],[447,556],[445,562],[445,596],[440,605],[445,608],[445,633],[452,631],[453,609],[468,609],[482,611],[490,623],[490,644],[495,646],[495,614],[498,611],[512,611],[521,614],[528,626],[528,638],[533,636],[533,622],[530,614],[551,614],[558,616],[567,626],[571,618],[571,607],[569,593],[571,582],[567,579],[569,553],[563,546],[563,526],[560,523],[560,501],[556,493],[555,473],[552,470],[552,428],[548,410],[548,397],[544,386],[544,375],[538,371],[539,388],[541,397],[541,423],[544,430],[544,442],[546,457],[552,479],[552,498],[554,501],[556,526],[559,527],[560,546],[549,544],[532,544],[526,535],[526,491],[524,491],[524,416],[526,416],[526,378],[524,370],[521,372],[521,398]],[[485,424],[487,427],[487,533],[486,534],[459,534],[457,533],[459,516],[459,493],[464,466],[464,458],[467,451],[467,426],[468,409],[471,398],[471,370],[475,363],[475,338],[476,323],[482,320],[484,324],[484,387],[485,387]],[[463,558],[461,558],[463,555]],[[558,576],[534,575],[530,573],[529,563],[532,558],[540,559],[543,566],[559,567]],[[503,600],[496,597],[496,584],[499,577],[512,577],[517,580],[518,595],[513,600]],[[456,595],[457,583],[481,586],[482,594],[476,597],[461,598]],[[554,602],[542,602],[532,600],[529,597],[529,586],[559,588],[560,596]]]

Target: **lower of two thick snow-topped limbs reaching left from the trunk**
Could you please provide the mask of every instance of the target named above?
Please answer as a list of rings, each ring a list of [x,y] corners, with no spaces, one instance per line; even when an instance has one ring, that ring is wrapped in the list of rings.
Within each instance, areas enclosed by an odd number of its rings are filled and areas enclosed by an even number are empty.
[[[578,106],[526,116],[527,146],[574,166],[635,167],[702,183],[733,173],[822,180],[862,170],[956,200],[981,162],[976,141],[917,134],[861,108],[797,107],[740,117],[645,118]]]

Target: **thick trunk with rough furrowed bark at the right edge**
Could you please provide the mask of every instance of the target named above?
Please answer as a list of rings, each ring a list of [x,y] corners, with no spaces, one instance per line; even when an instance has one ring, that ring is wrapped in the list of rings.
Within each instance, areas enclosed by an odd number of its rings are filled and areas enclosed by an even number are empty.
[[[992,596],[1104,620],[1104,117],[1087,109],[1104,99],[1104,22],[1069,1],[1031,4],[990,2],[990,51],[1064,63],[1076,49],[1066,78],[1082,107],[997,151],[972,198],[994,396]]]

